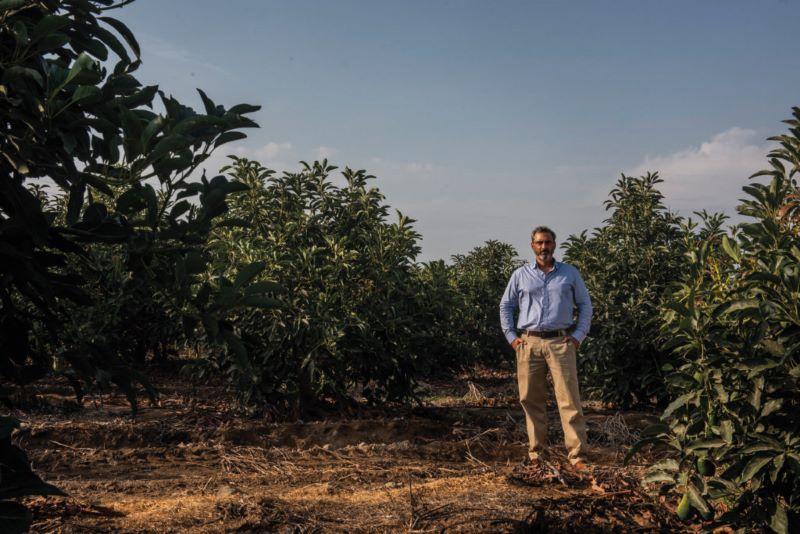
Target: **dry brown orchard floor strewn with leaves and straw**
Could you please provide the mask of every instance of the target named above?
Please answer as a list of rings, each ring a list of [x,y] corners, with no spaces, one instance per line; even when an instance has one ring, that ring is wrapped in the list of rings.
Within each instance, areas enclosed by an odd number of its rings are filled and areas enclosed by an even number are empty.
[[[622,459],[640,413],[586,407],[590,473],[563,458],[520,471],[526,437],[510,372],[422,384],[413,407],[273,423],[236,415],[224,390],[157,379],[135,419],[123,396],[39,386],[15,441],[68,497],[34,497],[35,532],[660,532],[678,523]],[[60,394],[60,395],[59,395]],[[38,406],[37,406],[38,405]],[[36,406],[36,407],[34,407]],[[637,458],[637,462],[643,462]]]

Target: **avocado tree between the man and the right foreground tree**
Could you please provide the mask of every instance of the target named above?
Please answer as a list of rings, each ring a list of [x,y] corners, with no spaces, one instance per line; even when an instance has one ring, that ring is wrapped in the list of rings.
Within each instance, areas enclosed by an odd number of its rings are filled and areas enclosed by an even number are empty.
[[[662,181],[658,173],[623,175],[605,202],[604,225],[565,243],[594,308],[581,347],[584,389],[625,408],[665,397],[661,368],[672,358],[659,335],[659,305],[680,276],[684,243],[681,219],[658,190]]]

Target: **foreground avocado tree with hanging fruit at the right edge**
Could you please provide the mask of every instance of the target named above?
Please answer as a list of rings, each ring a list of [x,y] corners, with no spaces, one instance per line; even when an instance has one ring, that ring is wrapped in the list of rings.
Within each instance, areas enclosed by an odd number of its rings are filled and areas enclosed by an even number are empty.
[[[674,453],[647,480],[683,493],[681,517],[775,532],[800,524],[800,108],[786,122],[748,222],[687,240],[662,322],[671,403],[638,445]]]

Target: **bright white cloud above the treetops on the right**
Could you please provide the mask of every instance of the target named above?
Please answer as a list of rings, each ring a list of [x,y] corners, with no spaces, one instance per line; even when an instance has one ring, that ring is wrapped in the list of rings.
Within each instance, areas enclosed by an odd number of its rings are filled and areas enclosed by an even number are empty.
[[[769,145],[754,130],[734,127],[699,147],[667,155],[647,156],[626,174],[658,171],[666,204],[681,212],[707,209],[735,213],[742,186],[750,175],[767,166]],[[684,213],[686,214],[686,213]]]

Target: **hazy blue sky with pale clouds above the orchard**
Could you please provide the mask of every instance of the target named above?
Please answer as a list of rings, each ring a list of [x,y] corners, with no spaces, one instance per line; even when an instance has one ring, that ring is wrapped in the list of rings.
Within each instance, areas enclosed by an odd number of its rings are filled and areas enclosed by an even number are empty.
[[[138,0],[140,81],[201,110],[258,104],[227,154],[366,169],[421,261],[497,239],[530,258],[600,226],[620,173],[735,214],[800,105],[800,2]]]

